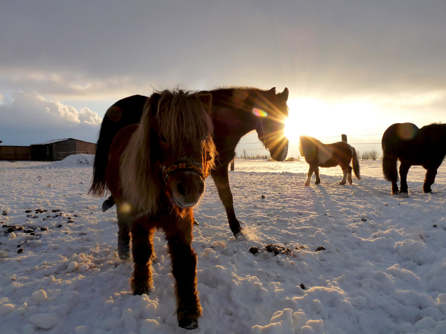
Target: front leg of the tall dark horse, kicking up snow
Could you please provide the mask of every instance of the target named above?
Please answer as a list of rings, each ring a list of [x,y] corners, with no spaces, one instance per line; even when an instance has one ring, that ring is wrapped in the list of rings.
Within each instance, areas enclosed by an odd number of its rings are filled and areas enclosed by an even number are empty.
[[[217,187],[217,190],[219,191],[220,200],[226,209],[229,227],[231,228],[232,233],[234,233],[234,236],[237,237],[242,234],[243,228],[240,227],[240,223],[237,220],[237,217],[235,217],[233,198],[231,188],[229,187],[227,166],[213,170],[211,175],[214,179],[215,187]]]

